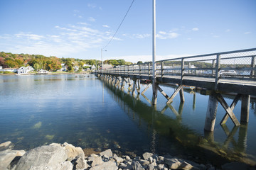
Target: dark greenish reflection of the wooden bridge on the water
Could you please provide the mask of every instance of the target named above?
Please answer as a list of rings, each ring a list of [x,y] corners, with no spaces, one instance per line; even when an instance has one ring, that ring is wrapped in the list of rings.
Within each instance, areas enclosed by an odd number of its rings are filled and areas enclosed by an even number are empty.
[[[214,140],[214,132],[206,131],[204,135],[182,123],[184,102],[179,103],[178,111],[172,104],[166,104],[160,110],[150,104],[149,98],[144,94],[134,96],[131,90],[124,91],[112,85],[112,82],[102,79],[108,93],[112,94],[120,108],[127,113],[137,126],[146,130],[151,140],[150,152],[159,154],[170,153],[185,159],[198,159],[198,162],[211,162],[212,164],[224,164],[225,162],[246,162],[255,164],[256,159],[246,154],[247,149],[247,124],[234,126],[229,130],[227,125],[221,125],[225,132],[224,142]],[[171,88],[171,87],[169,87]],[[196,108],[196,95],[200,91],[184,89],[186,93],[193,95],[193,110]],[[142,100],[143,99],[143,100]],[[165,114],[170,109],[175,116]],[[235,140],[238,135],[238,140]],[[230,147],[232,146],[232,147]]]

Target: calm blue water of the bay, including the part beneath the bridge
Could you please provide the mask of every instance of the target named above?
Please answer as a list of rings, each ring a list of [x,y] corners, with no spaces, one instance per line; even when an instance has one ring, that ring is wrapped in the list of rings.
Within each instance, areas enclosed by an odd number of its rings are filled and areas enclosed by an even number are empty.
[[[160,86],[169,95],[174,92]],[[253,99],[247,125],[235,128],[229,119],[220,126],[225,111],[219,105],[215,131],[208,134],[203,130],[208,96],[188,90],[185,103],[177,96],[166,106],[159,94],[152,108],[151,89],[144,95],[132,97],[127,86],[123,93],[92,74],[0,76],[0,142],[10,140],[15,149],[68,142],[122,153],[169,153],[198,162],[219,162],[220,155],[256,160]],[[228,104],[233,98],[225,96]],[[240,102],[234,113],[240,120]]]

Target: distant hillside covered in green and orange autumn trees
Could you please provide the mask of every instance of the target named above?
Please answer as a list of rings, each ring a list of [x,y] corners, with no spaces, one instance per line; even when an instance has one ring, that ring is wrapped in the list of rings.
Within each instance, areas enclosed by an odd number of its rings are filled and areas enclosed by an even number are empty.
[[[0,66],[3,68],[18,68],[22,66],[31,65],[34,69],[58,70],[61,68],[61,63],[68,66],[68,70],[72,71],[76,65],[83,67],[84,64],[99,65],[100,60],[80,60],[75,58],[58,58],[46,57],[44,55],[28,55],[28,54],[12,54],[11,52],[0,52]],[[124,60],[105,60],[104,64],[112,65],[129,65],[132,62]]]

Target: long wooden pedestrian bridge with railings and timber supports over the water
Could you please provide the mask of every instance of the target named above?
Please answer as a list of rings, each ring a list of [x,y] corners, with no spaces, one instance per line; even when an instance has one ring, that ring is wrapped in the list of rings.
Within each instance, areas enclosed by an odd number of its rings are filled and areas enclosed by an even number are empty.
[[[249,120],[250,97],[256,96],[256,48],[218,52],[208,55],[178,57],[169,60],[146,64],[133,64],[95,72],[101,79],[110,81],[113,86],[124,89],[127,84],[132,94],[144,94],[153,82],[153,105],[156,104],[157,91],[171,103],[180,94],[181,102],[185,101],[183,86],[195,86],[204,89],[209,95],[206,111],[205,130],[213,131],[218,103],[226,113],[220,124],[231,118],[235,125],[247,123]],[[141,92],[140,81],[150,82]],[[154,83],[155,82],[155,83]],[[161,89],[161,84],[177,84],[174,94],[169,96]],[[225,102],[223,93],[235,94],[230,106]],[[238,101],[241,101],[240,123],[233,113]]]

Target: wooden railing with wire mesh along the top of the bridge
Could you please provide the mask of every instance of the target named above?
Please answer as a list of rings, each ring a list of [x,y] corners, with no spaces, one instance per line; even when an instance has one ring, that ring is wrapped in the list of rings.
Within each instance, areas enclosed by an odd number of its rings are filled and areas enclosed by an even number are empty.
[[[156,62],[157,77],[209,77],[219,79],[256,79],[256,48],[179,57]],[[152,76],[152,63],[132,64],[100,70],[108,74]]]

